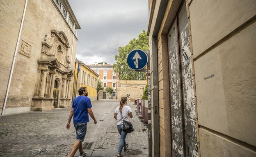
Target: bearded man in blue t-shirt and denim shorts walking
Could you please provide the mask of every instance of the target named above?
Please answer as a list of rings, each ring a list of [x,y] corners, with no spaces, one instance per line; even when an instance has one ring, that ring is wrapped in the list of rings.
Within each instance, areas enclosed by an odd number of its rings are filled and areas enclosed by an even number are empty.
[[[97,124],[94,113],[91,110],[91,100],[86,97],[88,95],[86,87],[80,87],[78,90],[79,96],[76,97],[73,101],[71,112],[69,114],[69,120],[66,125],[66,128],[70,128],[70,121],[73,117],[73,123],[75,126],[76,132],[76,141],[72,147],[69,157],[73,157],[76,151],[79,149],[79,157],[84,157],[87,155],[87,152],[82,150],[82,142],[85,139],[85,134],[87,130],[87,122],[89,122],[89,115],[94,120],[94,124]]]

